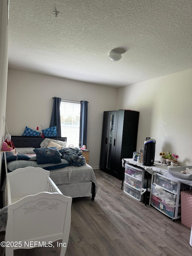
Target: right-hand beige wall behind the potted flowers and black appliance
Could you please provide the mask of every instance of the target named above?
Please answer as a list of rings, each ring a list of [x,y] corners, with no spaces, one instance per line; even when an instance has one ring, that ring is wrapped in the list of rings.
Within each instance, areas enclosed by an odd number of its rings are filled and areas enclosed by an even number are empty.
[[[156,160],[170,151],[192,165],[192,69],[119,88],[120,108],[140,111],[137,150],[151,137]]]

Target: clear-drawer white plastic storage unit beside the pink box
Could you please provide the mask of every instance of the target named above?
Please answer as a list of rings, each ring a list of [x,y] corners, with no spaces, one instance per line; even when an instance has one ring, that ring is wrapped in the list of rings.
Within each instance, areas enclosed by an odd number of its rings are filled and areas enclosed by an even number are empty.
[[[153,174],[149,205],[173,220],[181,218],[180,194],[183,189],[190,190],[191,187],[162,174]]]

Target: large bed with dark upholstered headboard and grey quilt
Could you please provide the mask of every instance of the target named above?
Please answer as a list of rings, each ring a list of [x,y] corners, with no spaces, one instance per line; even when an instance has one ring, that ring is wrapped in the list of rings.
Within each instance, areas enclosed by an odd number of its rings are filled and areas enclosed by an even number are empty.
[[[55,142],[67,140],[66,137],[49,137],[49,138],[42,138],[36,136],[11,136],[11,140],[16,148],[18,149],[27,149],[27,148],[34,148],[39,149],[44,142],[45,139],[55,140]],[[33,152],[34,153],[34,152]],[[30,155],[24,152],[23,155]],[[19,158],[18,158],[19,159]],[[63,159],[61,159],[63,161]],[[34,162],[35,161],[30,161]],[[31,163],[30,163],[31,164]],[[10,167],[11,166],[11,167]],[[7,163],[8,171],[14,171],[18,168],[24,168],[29,166],[28,160],[16,160]],[[68,165],[63,168],[56,168],[54,170],[48,169],[48,167],[42,167],[37,165],[31,165],[32,167],[41,167],[45,170],[50,171],[50,178],[53,180],[55,185],[59,188],[62,194],[69,196],[69,197],[85,197],[91,196],[91,200],[94,200],[95,195],[98,190],[97,180],[95,177],[95,173],[92,167],[88,164],[84,164],[82,166],[73,166]],[[5,170],[1,173],[1,182],[5,178]],[[1,191],[5,189],[5,180],[4,184],[1,184]]]

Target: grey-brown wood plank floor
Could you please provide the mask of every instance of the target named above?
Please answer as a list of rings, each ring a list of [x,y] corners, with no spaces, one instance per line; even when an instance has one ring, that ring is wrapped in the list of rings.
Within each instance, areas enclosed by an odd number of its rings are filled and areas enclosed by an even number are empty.
[[[190,229],[181,224],[181,219],[172,221],[152,206],[132,199],[121,190],[121,181],[101,170],[94,171],[99,190],[95,201],[91,197],[73,199],[65,256],[192,255]],[[3,240],[4,232],[0,233]],[[54,245],[18,249],[14,256],[58,256],[60,248],[56,242]]]

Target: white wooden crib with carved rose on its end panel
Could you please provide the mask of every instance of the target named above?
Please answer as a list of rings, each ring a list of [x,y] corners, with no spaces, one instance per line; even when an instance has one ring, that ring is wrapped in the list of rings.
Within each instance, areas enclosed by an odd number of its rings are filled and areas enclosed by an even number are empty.
[[[13,256],[18,248],[51,248],[52,242],[59,239],[65,244],[60,255],[65,255],[72,198],[59,191],[49,174],[35,167],[7,173],[6,255]]]

